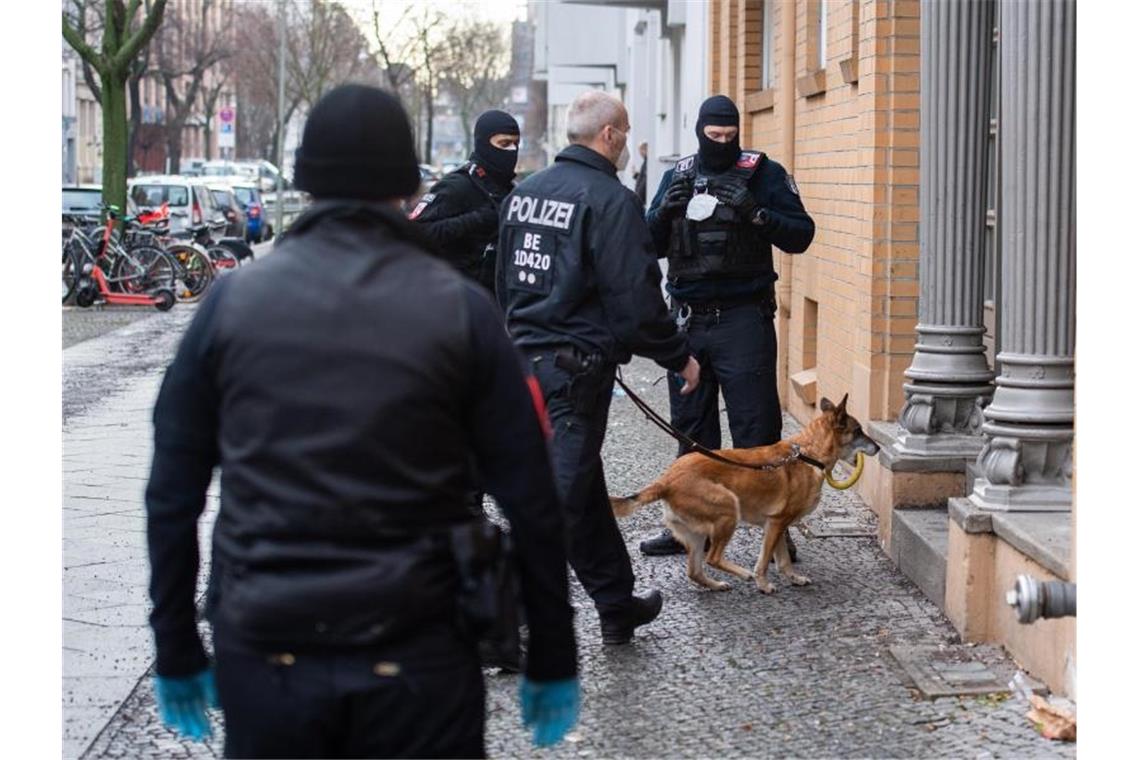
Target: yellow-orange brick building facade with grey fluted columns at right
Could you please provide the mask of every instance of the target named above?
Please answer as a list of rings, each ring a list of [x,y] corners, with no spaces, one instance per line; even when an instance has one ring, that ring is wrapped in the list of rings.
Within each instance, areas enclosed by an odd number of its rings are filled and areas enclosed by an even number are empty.
[[[709,92],[816,222],[777,262],[787,409],[849,393],[883,549],[1075,696],[1074,620],[1005,605],[1076,577],[1074,3],[712,0],[709,26]]]

